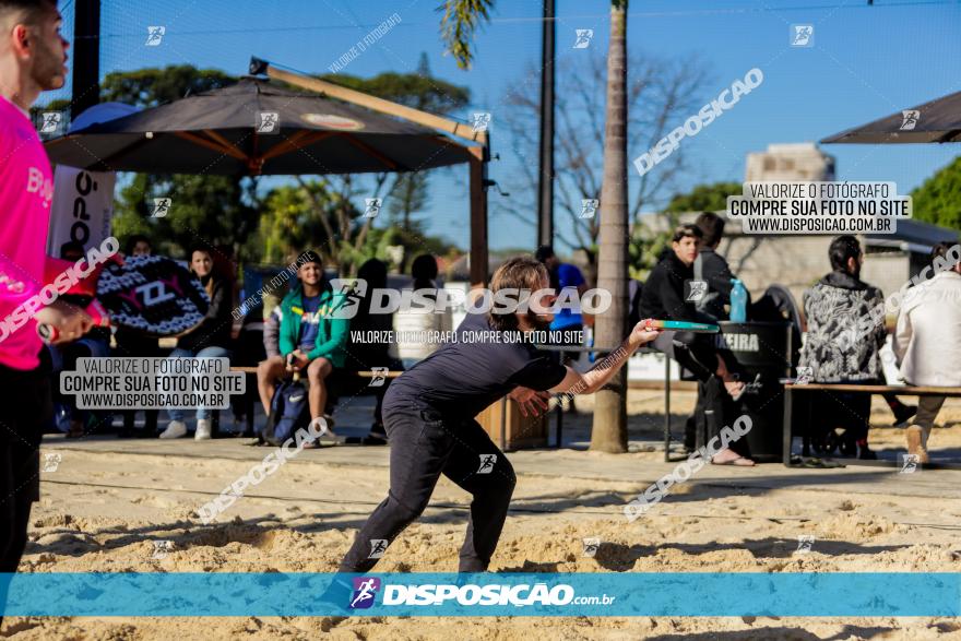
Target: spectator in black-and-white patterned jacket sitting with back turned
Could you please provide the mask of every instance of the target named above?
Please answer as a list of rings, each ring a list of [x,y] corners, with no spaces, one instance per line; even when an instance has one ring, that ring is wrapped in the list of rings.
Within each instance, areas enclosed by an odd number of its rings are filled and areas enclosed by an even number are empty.
[[[844,330],[858,325],[871,309],[882,306],[885,296],[877,287],[861,280],[864,252],[854,236],[839,236],[828,250],[832,272],[804,295],[807,337],[800,349],[798,367],[811,368],[811,380],[821,383],[878,383],[883,377],[880,349],[885,344],[883,323],[874,325],[867,336],[839,341]],[[843,428],[844,438],[858,458],[877,459],[867,443],[870,394],[818,394],[820,428],[830,437]],[[843,448],[842,448],[843,450]]]

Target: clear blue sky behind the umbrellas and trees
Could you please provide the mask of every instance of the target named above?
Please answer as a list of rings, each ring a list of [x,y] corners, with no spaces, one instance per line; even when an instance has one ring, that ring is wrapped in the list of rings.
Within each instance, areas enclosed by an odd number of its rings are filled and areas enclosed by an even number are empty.
[[[529,63],[539,68],[539,0],[499,0],[476,39],[473,69],[461,71],[443,55],[439,0],[103,0],[100,72],[189,62],[242,74],[251,55],[307,72],[323,72],[376,25],[396,13],[400,24],[352,61],[346,73],[414,72],[420,52],[435,75],[467,85],[473,105],[460,116],[490,111],[491,178],[517,171],[510,140],[497,118],[508,91]],[[61,1],[72,33],[72,2]],[[559,59],[574,49],[574,29],[594,29],[590,47],[606,50],[609,2],[558,0]],[[788,46],[792,24],[812,24],[815,46]],[[149,25],[164,25],[161,46],[145,47]],[[710,99],[758,67],[764,82],[693,139],[685,152],[696,167],[683,186],[743,180],[745,155],[770,143],[816,141],[852,126],[961,91],[961,1],[958,0],[633,0],[629,55],[700,55],[709,68]],[[558,91],[565,91],[558,86]],[[54,96],[51,96],[54,97]],[[707,100],[705,100],[707,102]],[[691,114],[692,115],[692,114]],[[688,115],[683,115],[687,117]],[[537,127],[531,122],[531,127]],[[646,150],[629,149],[631,158]],[[906,192],[961,153],[959,145],[826,145],[838,158],[838,178],[892,180]],[[631,168],[631,176],[637,174]],[[669,193],[660,194],[662,199]],[[530,224],[499,211],[490,193],[491,247],[531,247]],[[432,179],[424,218],[428,230],[467,244],[466,168]],[[562,224],[562,223],[561,223]]]

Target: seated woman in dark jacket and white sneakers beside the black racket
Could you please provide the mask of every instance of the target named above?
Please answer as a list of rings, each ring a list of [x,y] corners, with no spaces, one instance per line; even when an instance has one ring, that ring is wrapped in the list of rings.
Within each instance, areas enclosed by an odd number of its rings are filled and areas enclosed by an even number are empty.
[[[232,313],[233,296],[229,282],[214,273],[213,257],[210,249],[198,247],[190,252],[190,271],[200,278],[210,297],[210,309],[200,324],[190,333],[177,339],[177,348],[170,352],[170,358],[224,358],[230,356],[230,329],[234,324]],[[177,439],[187,436],[187,424],[183,423],[183,409],[168,409],[170,423],[161,432],[162,439]],[[195,440],[211,438],[211,411],[206,407],[197,409]]]

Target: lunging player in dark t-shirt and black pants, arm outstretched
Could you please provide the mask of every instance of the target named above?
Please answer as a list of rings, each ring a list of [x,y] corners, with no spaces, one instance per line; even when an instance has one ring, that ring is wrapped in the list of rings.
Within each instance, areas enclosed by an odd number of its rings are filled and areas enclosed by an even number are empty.
[[[503,289],[548,290],[547,270],[533,258],[508,260],[490,283]],[[553,290],[549,290],[553,292]],[[541,308],[555,296],[546,295]],[[537,309],[532,301],[531,307]],[[503,452],[474,419],[498,399],[510,395],[522,412],[547,408],[549,393],[590,394],[607,383],[657,330],[639,322],[620,347],[592,370],[579,373],[556,363],[517,332],[546,330],[550,313],[476,310],[458,328],[458,340],[417,363],[390,387],[383,419],[390,452],[390,490],[357,534],[341,563],[342,572],[366,572],[391,542],[427,507],[441,474],[473,495],[460,571],[487,569],[503,527],[515,477]]]

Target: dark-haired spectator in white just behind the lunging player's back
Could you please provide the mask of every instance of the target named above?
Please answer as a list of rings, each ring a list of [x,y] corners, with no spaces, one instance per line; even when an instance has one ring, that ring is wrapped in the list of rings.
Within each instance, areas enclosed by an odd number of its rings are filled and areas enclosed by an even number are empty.
[[[414,277],[412,284],[414,292],[420,292],[422,295],[436,301],[437,259],[429,253],[418,256],[411,263],[411,275]],[[394,329],[407,336],[423,336],[423,339],[398,341],[398,356],[404,367],[412,367],[418,360],[434,354],[440,347],[440,343],[428,341],[427,336],[434,332],[449,332],[452,324],[450,309],[418,307],[416,302],[408,308],[402,307],[394,314]]]

